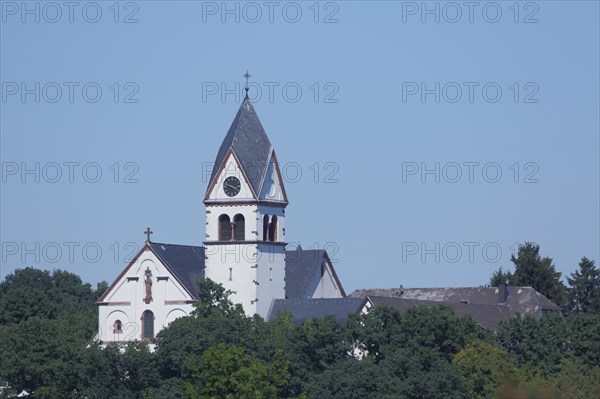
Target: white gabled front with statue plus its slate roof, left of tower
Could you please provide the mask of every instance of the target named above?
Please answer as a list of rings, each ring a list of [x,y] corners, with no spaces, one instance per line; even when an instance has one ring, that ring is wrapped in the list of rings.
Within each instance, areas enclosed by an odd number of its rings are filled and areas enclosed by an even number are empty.
[[[102,342],[152,340],[192,311],[201,277],[198,247],[146,243],[98,300]]]

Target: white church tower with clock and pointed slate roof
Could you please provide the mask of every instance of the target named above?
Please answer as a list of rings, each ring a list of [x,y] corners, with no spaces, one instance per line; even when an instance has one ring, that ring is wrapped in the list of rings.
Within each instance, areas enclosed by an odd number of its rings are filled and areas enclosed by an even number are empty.
[[[235,292],[247,315],[285,298],[285,208],[275,150],[246,96],[213,165],[206,205],[205,276]]]

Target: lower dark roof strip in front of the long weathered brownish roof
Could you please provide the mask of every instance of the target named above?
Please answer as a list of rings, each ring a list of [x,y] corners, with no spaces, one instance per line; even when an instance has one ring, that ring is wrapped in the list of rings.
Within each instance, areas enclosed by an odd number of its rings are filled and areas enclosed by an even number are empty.
[[[491,331],[495,331],[498,328],[498,323],[501,320],[509,319],[514,315],[514,312],[511,311],[511,309],[506,305],[466,304],[398,297],[369,296],[368,298],[374,306],[391,306],[394,309],[399,310],[400,313],[403,313],[416,306],[432,307],[437,305],[447,305],[452,307],[452,310],[456,316],[462,317],[471,315],[477,324]]]

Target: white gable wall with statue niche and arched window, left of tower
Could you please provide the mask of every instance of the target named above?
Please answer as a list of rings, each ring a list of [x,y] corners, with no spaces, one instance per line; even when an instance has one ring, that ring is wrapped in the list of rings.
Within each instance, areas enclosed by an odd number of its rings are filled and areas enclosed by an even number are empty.
[[[146,303],[148,270],[152,299]],[[193,302],[186,289],[146,247],[98,301],[98,339],[109,343],[153,338],[176,318],[189,315]],[[152,312],[154,319],[152,336],[148,331],[148,336],[142,335],[146,311]]]

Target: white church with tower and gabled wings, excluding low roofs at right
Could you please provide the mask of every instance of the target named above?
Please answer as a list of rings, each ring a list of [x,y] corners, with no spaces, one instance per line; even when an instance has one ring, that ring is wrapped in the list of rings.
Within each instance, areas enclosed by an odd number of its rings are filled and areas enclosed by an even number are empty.
[[[204,197],[203,246],[147,240],[97,302],[103,343],[152,340],[187,316],[207,277],[234,292],[247,315],[275,299],[344,298],[324,250],[286,250],[288,198],[275,149],[248,96],[217,152]]]

